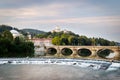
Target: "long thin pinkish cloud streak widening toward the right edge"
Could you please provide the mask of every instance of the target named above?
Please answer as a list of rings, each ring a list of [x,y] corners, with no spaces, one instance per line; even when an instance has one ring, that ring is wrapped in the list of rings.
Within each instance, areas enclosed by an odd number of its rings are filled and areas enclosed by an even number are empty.
[[[22,21],[21,21],[22,22]],[[24,21],[28,22],[29,21]],[[82,17],[82,18],[63,18],[63,19],[38,19],[31,22],[40,23],[79,23],[79,24],[114,24],[120,25],[120,16],[100,16],[100,17]]]

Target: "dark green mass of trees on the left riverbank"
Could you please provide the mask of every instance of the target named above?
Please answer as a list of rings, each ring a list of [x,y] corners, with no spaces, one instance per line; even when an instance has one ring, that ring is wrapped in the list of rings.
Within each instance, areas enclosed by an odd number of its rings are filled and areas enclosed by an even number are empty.
[[[13,39],[9,31],[0,33],[0,57],[32,57],[34,44],[21,37]]]

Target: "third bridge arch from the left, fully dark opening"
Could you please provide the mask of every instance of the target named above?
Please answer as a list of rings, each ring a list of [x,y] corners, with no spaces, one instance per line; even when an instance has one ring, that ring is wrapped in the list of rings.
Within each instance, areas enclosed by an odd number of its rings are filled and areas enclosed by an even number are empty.
[[[89,57],[92,54],[92,52],[89,49],[81,48],[78,49],[77,54],[81,57]]]

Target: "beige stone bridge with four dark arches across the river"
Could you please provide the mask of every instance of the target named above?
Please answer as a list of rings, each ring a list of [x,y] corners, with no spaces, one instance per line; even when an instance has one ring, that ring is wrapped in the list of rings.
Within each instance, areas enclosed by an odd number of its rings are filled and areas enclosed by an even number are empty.
[[[120,60],[120,46],[46,46],[46,56]]]

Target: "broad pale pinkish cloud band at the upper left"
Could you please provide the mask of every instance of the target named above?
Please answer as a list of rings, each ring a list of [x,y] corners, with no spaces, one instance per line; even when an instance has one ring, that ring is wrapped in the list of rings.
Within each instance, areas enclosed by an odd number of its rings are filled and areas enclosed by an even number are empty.
[[[59,15],[57,8],[62,5],[34,6],[19,9],[0,9],[0,17],[11,18],[35,18],[35,17],[54,17]]]

